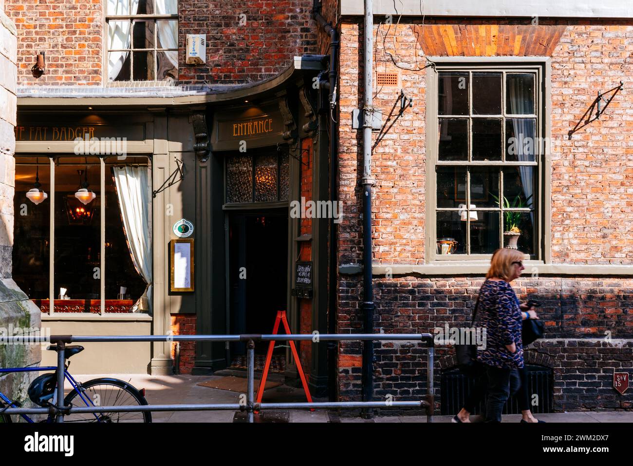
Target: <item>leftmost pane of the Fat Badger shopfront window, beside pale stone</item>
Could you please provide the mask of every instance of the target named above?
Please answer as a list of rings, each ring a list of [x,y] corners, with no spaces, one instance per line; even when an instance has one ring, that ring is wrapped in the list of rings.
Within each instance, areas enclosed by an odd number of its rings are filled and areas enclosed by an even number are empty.
[[[39,165],[35,165],[36,162]],[[27,192],[35,189],[36,168],[39,168],[39,183],[42,185],[40,189],[47,195],[44,200],[33,197],[39,204],[27,198]],[[35,157],[16,157],[13,196],[13,280],[30,299],[49,298],[50,180],[48,157],[40,157],[39,160]]]

